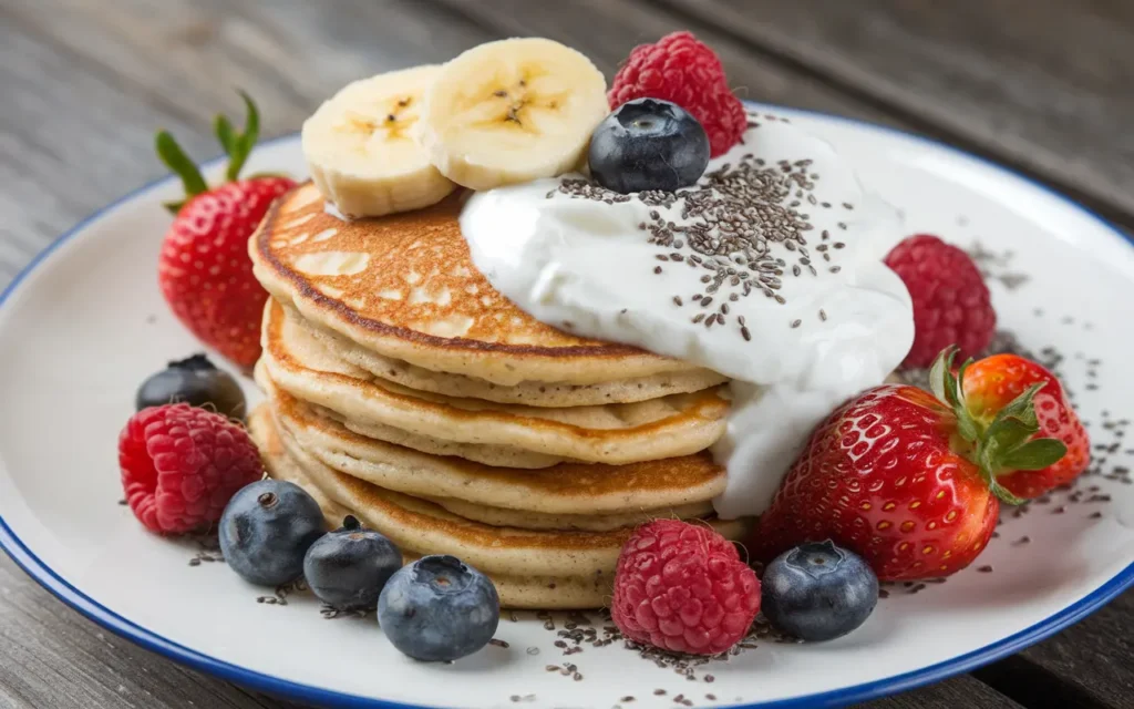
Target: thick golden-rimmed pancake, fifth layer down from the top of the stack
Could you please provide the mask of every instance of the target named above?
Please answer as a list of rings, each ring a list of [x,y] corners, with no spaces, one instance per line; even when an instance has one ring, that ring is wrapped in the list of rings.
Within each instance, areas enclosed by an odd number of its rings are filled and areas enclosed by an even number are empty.
[[[646,510],[669,516],[725,490],[725,470],[706,453],[628,465],[564,463],[538,471],[423,454],[354,433],[315,415],[271,381],[263,383],[277,422],[310,455],[338,472],[416,497],[543,515]]]

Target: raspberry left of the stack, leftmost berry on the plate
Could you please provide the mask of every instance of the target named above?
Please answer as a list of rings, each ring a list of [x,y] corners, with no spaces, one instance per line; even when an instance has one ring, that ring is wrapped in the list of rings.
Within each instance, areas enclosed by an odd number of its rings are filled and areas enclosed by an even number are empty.
[[[239,424],[188,404],[134,414],[118,437],[118,465],[130,509],[159,534],[208,527],[264,471]]]

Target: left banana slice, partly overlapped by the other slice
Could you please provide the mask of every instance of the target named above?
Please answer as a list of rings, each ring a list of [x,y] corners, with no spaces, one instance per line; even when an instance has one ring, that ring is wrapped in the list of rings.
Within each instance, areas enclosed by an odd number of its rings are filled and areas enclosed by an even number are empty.
[[[311,177],[347,217],[381,217],[440,202],[456,188],[412,134],[441,67],[347,84],[303,124]]]

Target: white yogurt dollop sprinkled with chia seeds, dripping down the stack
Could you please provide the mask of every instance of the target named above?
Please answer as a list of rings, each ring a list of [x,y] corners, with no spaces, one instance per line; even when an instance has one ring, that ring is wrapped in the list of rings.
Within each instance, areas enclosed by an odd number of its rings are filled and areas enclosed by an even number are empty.
[[[784,119],[750,116],[676,196],[568,175],[477,193],[460,228],[476,268],[534,318],[734,380],[713,447],[725,518],[762,513],[813,428],[913,343],[909,294],[882,263],[895,211]]]

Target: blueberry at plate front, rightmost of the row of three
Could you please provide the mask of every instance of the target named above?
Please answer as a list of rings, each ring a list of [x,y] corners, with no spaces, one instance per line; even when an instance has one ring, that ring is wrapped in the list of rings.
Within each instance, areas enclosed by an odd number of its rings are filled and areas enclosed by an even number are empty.
[[[439,662],[488,644],[500,598],[488,576],[451,556],[426,556],[398,571],[378,599],[378,622],[393,647]]]

